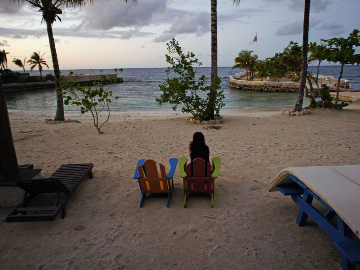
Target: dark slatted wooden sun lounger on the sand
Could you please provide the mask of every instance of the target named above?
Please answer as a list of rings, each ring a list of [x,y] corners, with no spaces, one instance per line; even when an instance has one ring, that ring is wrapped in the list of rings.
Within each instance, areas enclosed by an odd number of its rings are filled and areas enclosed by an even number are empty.
[[[24,198],[22,203],[6,216],[6,222],[51,221],[55,220],[60,211],[64,218],[67,201],[86,176],[93,178],[93,167],[93,163],[64,164],[49,178],[18,181],[17,185],[24,190]],[[57,193],[53,205],[29,206],[34,204],[37,195],[44,193]]]

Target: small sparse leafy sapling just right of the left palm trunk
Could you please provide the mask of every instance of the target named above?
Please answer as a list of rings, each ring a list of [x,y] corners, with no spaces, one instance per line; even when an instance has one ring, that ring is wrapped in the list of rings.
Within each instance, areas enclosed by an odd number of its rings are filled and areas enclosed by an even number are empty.
[[[80,84],[76,84],[75,76],[73,76],[74,72],[70,72],[71,78],[68,80],[61,76],[62,81],[60,81],[60,85],[63,88],[63,98],[64,104],[73,104],[80,106],[80,113],[84,114],[86,112],[91,112],[93,116],[93,122],[96,130],[99,134],[102,134],[100,129],[101,127],[109,120],[110,118],[110,107],[109,103],[113,100],[118,99],[118,96],[112,98],[112,91],[109,89],[116,83],[122,81],[122,78],[117,77],[118,72],[122,72],[122,68],[114,69],[116,75],[109,77],[109,81],[112,82],[112,85],[107,89],[104,89],[104,80],[106,79],[105,75],[100,75],[100,80],[94,80],[93,87],[92,86],[81,86]],[[56,80],[56,79],[55,79]],[[99,122],[99,114],[102,111],[107,111],[108,116],[106,120],[102,123]]]

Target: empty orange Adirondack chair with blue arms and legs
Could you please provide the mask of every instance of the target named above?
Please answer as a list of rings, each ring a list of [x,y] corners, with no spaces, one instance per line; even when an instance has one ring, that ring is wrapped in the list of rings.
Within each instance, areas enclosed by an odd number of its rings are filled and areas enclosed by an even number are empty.
[[[158,173],[156,162],[153,159],[140,159],[136,165],[134,178],[138,179],[141,200],[140,207],[143,207],[145,197],[147,193],[168,193],[167,207],[170,204],[171,189],[174,188],[173,176],[177,164],[177,158],[170,158],[170,172],[166,174],[165,166],[160,165],[160,174]]]

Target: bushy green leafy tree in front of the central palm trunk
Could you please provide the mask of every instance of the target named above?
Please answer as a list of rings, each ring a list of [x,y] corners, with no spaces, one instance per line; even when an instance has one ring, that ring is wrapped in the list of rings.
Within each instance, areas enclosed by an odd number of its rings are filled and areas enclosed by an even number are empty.
[[[183,113],[192,113],[195,119],[209,120],[214,116],[219,116],[220,108],[224,107],[222,100],[225,98],[223,91],[217,92],[216,99],[213,99],[213,95],[210,86],[204,86],[206,84],[206,77],[203,75],[197,80],[195,79],[195,73],[193,65],[199,66],[202,63],[195,58],[194,53],[183,53],[179,42],[172,39],[167,45],[167,50],[170,54],[177,54],[178,57],[171,57],[166,54],[166,62],[171,65],[166,70],[167,74],[173,71],[178,78],[168,78],[166,83],[159,85],[160,90],[163,92],[159,98],[155,98],[159,105],[163,103],[174,104],[174,111],[177,106],[183,104],[181,111]],[[220,89],[220,78],[213,82],[216,86],[216,90]],[[202,97],[203,98],[202,98]],[[214,108],[215,113],[211,115],[208,108]]]

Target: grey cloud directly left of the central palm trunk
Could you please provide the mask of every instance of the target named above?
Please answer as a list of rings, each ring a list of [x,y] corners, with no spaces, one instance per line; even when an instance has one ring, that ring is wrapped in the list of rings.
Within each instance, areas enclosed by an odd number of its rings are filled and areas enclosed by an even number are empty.
[[[187,13],[183,17],[175,17],[170,29],[154,39],[155,42],[165,42],[176,35],[195,33],[202,36],[210,31],[210,14],[208,12]]]

